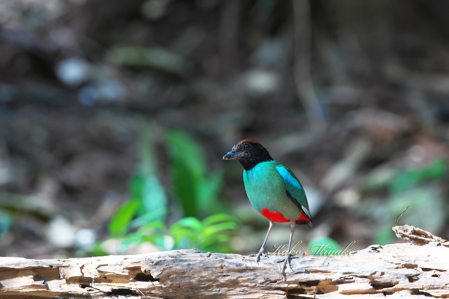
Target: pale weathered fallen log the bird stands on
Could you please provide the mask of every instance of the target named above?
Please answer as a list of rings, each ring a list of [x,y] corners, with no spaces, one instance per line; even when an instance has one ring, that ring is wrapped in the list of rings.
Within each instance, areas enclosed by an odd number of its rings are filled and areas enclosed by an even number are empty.
[[[0,298],[145,298],[137,288],[148,298],[166,299],[449,297],[449,248],[436,243],[373,245],[327,262],[327,256],[298,256],[292,259],[295,273],[280,278],[277,256],[259,264],[237,254],[207,256],[174,250],[66,260],[4,257]]]

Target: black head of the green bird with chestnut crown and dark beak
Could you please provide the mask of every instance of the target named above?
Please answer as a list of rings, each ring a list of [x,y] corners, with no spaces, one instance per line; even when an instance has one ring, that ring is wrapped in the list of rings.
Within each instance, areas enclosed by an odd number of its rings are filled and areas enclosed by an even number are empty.
[[[238,160],[246,170],[260,162],[273,160],[267,149],[252,139],[243,139],[234,144],[232,150],[223,156],[223,160],[231,159]]]

